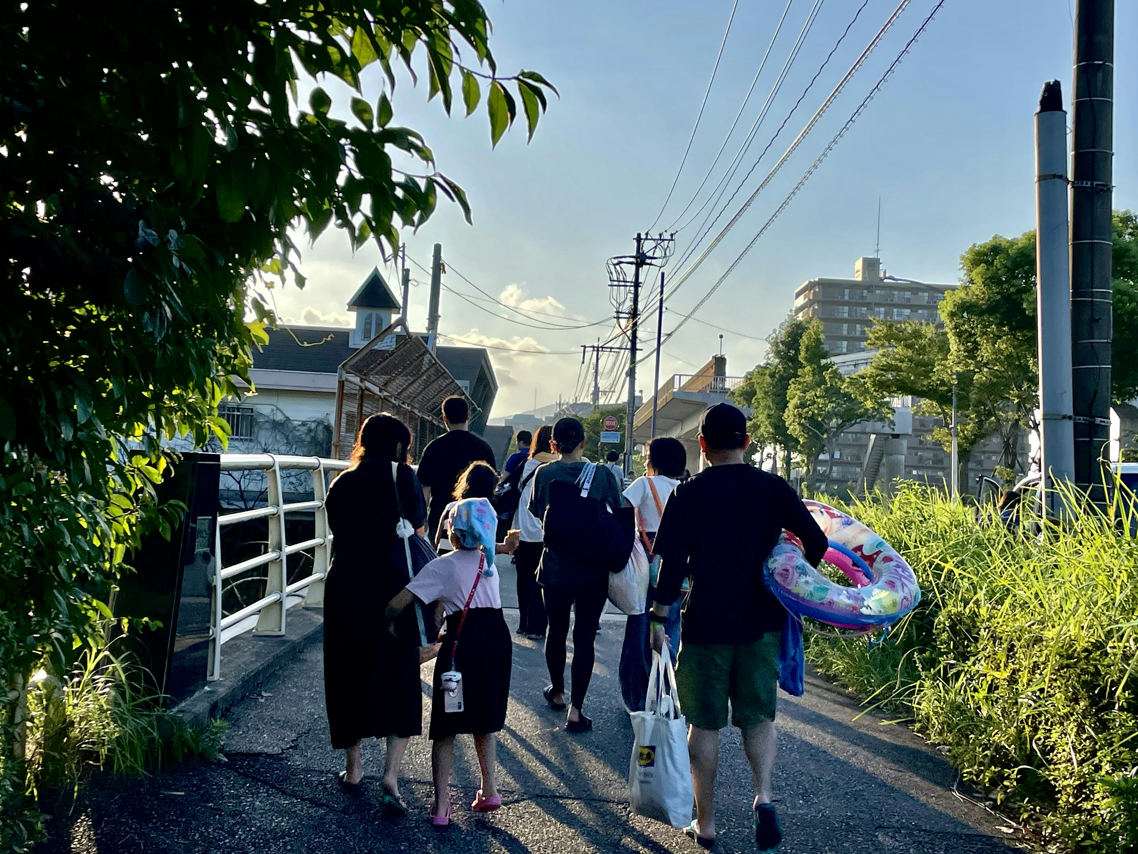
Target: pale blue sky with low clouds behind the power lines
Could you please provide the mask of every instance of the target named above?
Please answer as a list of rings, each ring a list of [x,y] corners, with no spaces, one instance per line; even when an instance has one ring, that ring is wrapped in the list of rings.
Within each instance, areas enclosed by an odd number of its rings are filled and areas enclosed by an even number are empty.
[[[857,124],[695,315],[706,322],[687,323],[665,347],[661,376],[690,372],[717,352],[721,330],[707,323],[733,330],[724,332],[728,372],[751,368],[766,350],[761,338],[790,311],[795,287],[816,277],[852,276],[855,260],[873,254],[879,196],[882,264],[904,278],[956,281],[959,255],[968,245],[1032,228],[1032,114],[1046,80],[1058,77],[1064,98],[1070,97],[1072,1],[947,0]],[[814,2],[792,0],[740,126],[694,207],[737,150]],[[823,1],[736,181],[861,2]],[[868,0],[720,224],[766,175],[896,6],[897,0]],[[934,0],[913,0],[790,162],[669,302],[665,331],[707,293],[778,207],[933,6]],[[426,87],[415,89],[406,77],[401,80],[393,98],[395,123],[424,134],[440,171],[465,188],[475,221],[467,225],[456,207],[444,204],[419,233],[405,233],[409,253],[429,265],[431,245],[443,244],[444,258],[453,268],[444,281],[462,294],[475,291],[454,271],[506,303],[600,320],[611,315],[604,261],[632,252],[636,231],[649,228],[663,203],[732,0],[492,0],[486,8],[500,72],[539,71],[561,98],[551,99],[529,145],[519,122],[492,150],[484,110],[464,118],[457,108],[447,118],[437,99],[427,102]],[[673,222],[707,173],[784,8],[784,0],[740,0],[687,164],[657,229]],[[1138,63],[1128,47],[1138,38],[1138,5],[1118,3],[1116,15],[1114,204],[1138,207],[1138,164],[1132,156]],[[344,114],[347,91],[327,88],[337,101],[335,109]],[[374,100],[379,89],[378,73],[369,69],[365,93]],[[677,235],[681,253],[701,220]],[[279,313],[296,321],[347,322],[345,302],[377,264],[382,269],[377,249],[353,255],[343,236],[325,235],[300,264],[307,287],[277,291]],[[427,276],[417,272],[415,278]],[[494,311],[510,314],[501,307]],[[412,288],[412,326],[422,328],[426,314],[424,282]],[[444,334],[505,348],[492,351],[502,385],[494,416],[533,407],[535,394],[539,404],[571,396],[578,386],[579,345],[608,334],[610,326],[530,329],[472,307],[454,294],[444,291],[442,299]],[[644,331],[654,336],[654,321]],[[517,352],[527,350],[554,354]],[[564,351],[574,354],[560,354]],[[641,367],[643,379],[637,383],[646,394],[651,367]]]

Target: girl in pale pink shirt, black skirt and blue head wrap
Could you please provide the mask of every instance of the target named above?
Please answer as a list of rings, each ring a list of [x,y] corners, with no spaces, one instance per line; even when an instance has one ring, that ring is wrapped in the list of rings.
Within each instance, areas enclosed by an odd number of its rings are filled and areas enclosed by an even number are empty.
[[[424,566],[387,607],[386,623],[412,603],[442,602],[446,610],[446,635],[435,662],[431,695],[430,739],[435,802],[430,821],[451,822],[448,785],[454,767],[454,737],[470,734],[481,771],[481,788],[470,808],[488,813],[502,806],[496,782],[495,733],[505,725],[510,697],[512,644],[502,616],[498,576],[494,570],[494,534],[497,516],[487,499],[463,499],[451,518],[454,551]],[[455,684],[448,697],[444,693]],[[461,700],[461,701],[460,701]]]

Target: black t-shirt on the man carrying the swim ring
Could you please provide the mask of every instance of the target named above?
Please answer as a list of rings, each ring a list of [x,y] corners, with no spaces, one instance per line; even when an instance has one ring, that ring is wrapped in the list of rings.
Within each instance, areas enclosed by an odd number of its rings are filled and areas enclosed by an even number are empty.
[[[747,465],[712,466],[679,484],[663,508],[654,551],[655,600],[670,605],[684,578],[685,643],[750,643],[783,626],[785,609],[762,583],[762,565],[786,528],[817,566],[826,535],[790,484]]]

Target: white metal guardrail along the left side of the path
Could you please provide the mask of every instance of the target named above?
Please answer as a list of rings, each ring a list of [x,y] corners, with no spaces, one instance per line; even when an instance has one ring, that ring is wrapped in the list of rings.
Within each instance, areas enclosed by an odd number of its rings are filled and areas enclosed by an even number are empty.
[[[221,648],[233,638],[256,630],[258,634],[282,635],[288,623],[288,609],[300,605],[321,606],[324,601],[324,578],[332,556],[332,534],[328,529],[324,499],[328,495],[328,474],[348,467],[347,460],[321,457],[286,457],[271,453],[223,453],[222,471],[264,471],[267,502],[251,510],[221,512],[215,526],[215,560],[217,572],[213,578],[209,629],[209,681],[221,679]],[[284,503],[281,471],[312,473],[312,501]],[[288,543],[284,534],[288,514],[313,511],[314,536],[298,543]],[[222,561],[221,529],[254,519],[269,519],[269,542],[263,555],[232,566]],[[313,550],[312,574],[288,583],[288,556]],[[266,567],[265,594],[232,614],[222,610],[225,582],[241,573]]]

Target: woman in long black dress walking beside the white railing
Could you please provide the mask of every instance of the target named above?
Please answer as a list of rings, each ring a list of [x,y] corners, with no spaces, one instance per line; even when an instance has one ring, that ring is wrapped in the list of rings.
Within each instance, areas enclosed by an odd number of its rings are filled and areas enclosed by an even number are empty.
[[[386,738],[384,790],[388,814],[403,814],[399,766],[407,741],[422,732],[419,649],[396,641],[380,617],[407,583],[395,526],[402,504],[417,528],[427,519],[422,488],[406,465],[411,432],[389,414],[371,416],[360,429],[352,466],[328,490],[332,565],[324,588],[324,699],[332,748],[345,752],[339,779],[360,790],[360,742]],[[391,463],[398,463],[393,479]],[[398,482],[398,502],[395,481]]]

